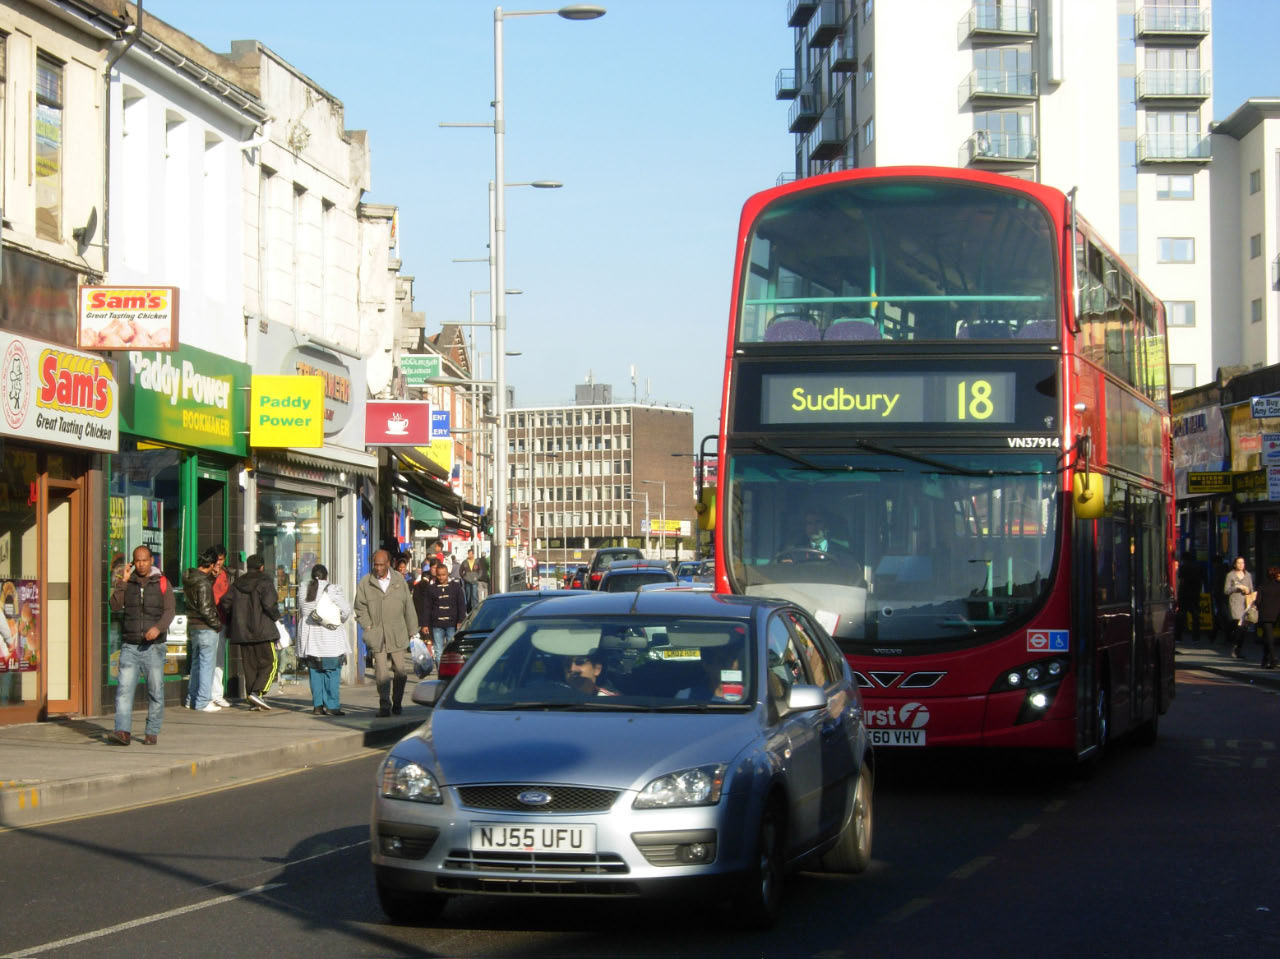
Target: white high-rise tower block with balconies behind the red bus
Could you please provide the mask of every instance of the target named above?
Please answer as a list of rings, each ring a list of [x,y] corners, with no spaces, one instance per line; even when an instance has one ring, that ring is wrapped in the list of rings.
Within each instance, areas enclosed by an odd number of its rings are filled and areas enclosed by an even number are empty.
[[[795,60],[774,90],[795,169],[780,182],[925,164],[1078,187],[1169,307],[1174,389],[1240,362],[1213,282],[1234,252],[1211,229],[1208,0],[788,0],[786,22]]]

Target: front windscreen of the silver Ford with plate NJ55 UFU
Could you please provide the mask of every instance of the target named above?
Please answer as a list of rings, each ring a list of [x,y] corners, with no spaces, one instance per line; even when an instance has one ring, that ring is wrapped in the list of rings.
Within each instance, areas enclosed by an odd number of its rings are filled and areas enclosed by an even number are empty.
[[[527,617],[472,658],[444,708],[741,709],[755,702],[746,624],[694,617]]]

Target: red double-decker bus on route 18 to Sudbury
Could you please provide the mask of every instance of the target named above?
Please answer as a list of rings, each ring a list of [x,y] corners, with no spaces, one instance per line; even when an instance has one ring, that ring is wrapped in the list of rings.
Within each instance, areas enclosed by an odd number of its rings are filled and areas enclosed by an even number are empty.
[[[1158,300],[1074,198],[877,168],[751,197],[717,588],[796,600],[882,746],[1089,759],[1174,697]]]

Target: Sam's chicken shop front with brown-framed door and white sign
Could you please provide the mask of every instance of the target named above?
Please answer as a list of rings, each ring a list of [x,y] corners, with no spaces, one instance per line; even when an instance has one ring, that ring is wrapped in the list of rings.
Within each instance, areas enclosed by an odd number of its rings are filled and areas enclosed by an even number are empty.
[[[76,274],[67,273],[74,306]],[[116,375],[101,356],[8,329],[0,361],[0,725],[92,713],[102,460],[119,443]]]

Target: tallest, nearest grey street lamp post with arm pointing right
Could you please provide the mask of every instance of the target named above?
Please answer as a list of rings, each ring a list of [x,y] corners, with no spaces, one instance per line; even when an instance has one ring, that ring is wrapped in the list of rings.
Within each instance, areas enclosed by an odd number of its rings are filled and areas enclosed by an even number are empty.
[[[503,109],[502,83],[502,24],[508,17],[539,17],[558,14],[567,20],[594,20],[604,15],[604,8],[595,4],[570,4],[558,10],[512,10],[503,13],[500,6],[493,10],[493,332],[494,332],[494,379],[498,416],[497,448],[494,449],[494,548],[498,551],[494,586],[499,593],[507,590],[509,562],[507,556],[507,205],[503,195],[507,183],[506,141],[507,117]]]

